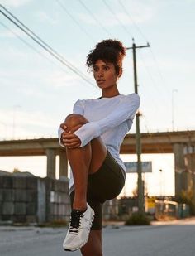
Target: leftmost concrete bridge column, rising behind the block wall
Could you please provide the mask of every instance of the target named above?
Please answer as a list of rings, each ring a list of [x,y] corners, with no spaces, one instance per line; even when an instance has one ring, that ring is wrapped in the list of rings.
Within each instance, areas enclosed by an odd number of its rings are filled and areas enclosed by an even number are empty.
[[[46,149],[46,156],[47,156],[47,176],[55,179],[55,149],[47,148]]]

